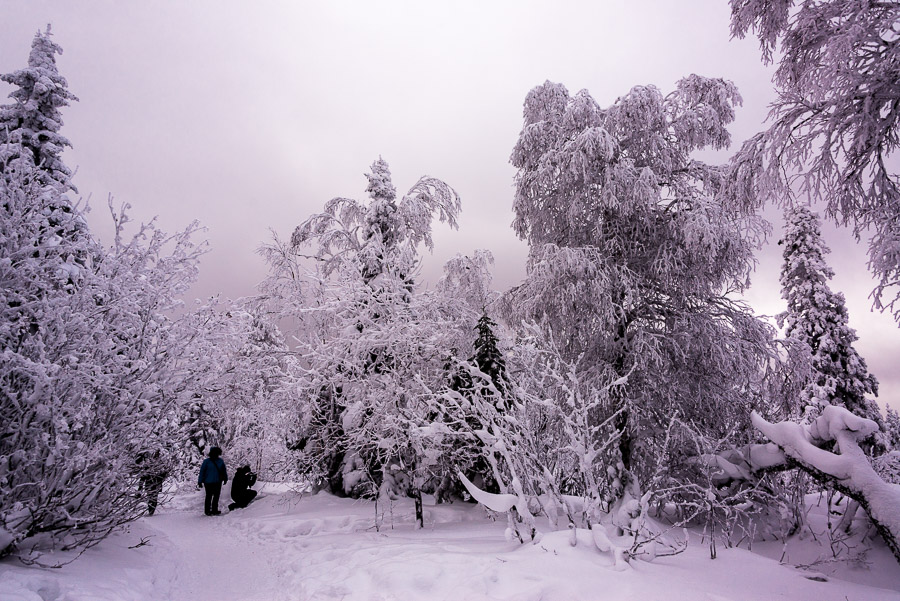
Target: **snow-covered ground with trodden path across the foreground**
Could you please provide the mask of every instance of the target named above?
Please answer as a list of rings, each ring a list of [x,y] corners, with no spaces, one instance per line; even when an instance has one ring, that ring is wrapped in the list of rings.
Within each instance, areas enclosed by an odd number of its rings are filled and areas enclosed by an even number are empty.
[[[696,541],[680,555],[617,571],[587,532],[575,547],[568,532],[520,545],[504,538],[505,521],[470,504],[426,503],[426,527],[416,530],[412,503],[401,501],[380,531],[370,502],[271,484],[244,510],[206,517],[202,505],[200,492],[177,494],[157,515],[59,569],[4,561],[0,599],[900,601],[900,567],[880,541],[864,560],[822,561],[806,571],[778,560],[827,560],[828,546],[811,534],[786,548],[719,547],[715,560]]]

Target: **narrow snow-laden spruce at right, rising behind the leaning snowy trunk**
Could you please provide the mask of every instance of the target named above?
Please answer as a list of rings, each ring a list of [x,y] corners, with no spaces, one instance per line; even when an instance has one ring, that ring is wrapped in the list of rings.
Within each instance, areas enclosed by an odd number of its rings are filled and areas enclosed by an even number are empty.
[[[788,306],[778,319],[785,335],[807,345],[812,354],[811,379],[801,394],[798,415],[808,405],[815,408],[815,415],[827,405],[841,405],[881,424],[878,406],[866,397],[878,394],[878,381],[853,348],[857,337],[848,323],[844,295],[828,286],[834,271],[825,263],[829,250],[820,229],[818,215],[806,207],[785,214],[780,281]],[[881,451],[886,446],[884,441],[877,445]]]

